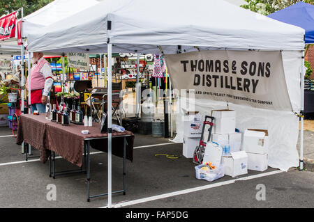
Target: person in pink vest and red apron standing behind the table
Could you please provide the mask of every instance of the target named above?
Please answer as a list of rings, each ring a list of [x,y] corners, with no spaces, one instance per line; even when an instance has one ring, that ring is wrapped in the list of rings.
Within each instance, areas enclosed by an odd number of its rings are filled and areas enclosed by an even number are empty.
[[[50,94],[50,89],[54,82],[52,79],[51,66],[50,63],[43,58],[43,53],[41,52],[33,53],[31,63],[33,63],[31,67],[31,111],[45,113],[47,95]]]

